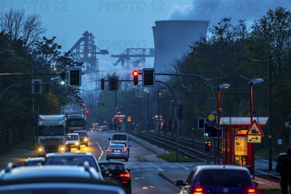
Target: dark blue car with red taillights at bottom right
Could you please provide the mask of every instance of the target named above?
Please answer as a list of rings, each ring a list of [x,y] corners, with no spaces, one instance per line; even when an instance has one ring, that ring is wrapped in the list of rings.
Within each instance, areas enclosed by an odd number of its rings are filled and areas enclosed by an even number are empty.
[[[258,183],[248,168],[235,165],[198,165],[189,174],[179,194],[258,194]]]

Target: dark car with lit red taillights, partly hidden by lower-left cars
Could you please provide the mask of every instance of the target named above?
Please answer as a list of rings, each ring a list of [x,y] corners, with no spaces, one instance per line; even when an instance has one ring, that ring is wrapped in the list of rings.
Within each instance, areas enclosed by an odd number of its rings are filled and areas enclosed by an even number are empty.
[[[126,194],[131,194],[130,169],[126,168],[123,162],[98,161],[98,164],[104,180],[118,183],[124,188]]]

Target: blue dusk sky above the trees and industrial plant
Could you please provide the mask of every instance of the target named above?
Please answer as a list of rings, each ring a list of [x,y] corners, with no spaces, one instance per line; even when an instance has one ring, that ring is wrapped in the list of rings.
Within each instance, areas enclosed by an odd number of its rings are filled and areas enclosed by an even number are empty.
[[[27,14],[39,13],[47,25],[48,38],[57,37],[68,51],[85,31],[95,35],[99,49],[109,55],[98,55],[99,69],[121,72],[123,67],[112,65],[117,58],[111,54],[127,48],[153,48],[152,26],[156,20],[210,20],[209,28],[223,18],[236,23],[266,15],[268,9],[291,7],[290,0],[1,0],[1,13],[10,7],[23,9]],[[153,67],[153,58],[146,59],[146,67]],[[104,73],[104,72],[101,72]]]

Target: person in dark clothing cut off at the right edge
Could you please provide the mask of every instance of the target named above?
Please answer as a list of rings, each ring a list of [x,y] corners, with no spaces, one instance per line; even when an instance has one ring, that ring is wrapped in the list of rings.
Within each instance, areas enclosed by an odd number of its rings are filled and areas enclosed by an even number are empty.
[[[287,150],[286,154],[282,154],[277,159],[277,162],[282,165],[282,170],[279,172],[281,175],[280,185],[282,194],[288,194],[288,185],[291,188],[291,148]]]

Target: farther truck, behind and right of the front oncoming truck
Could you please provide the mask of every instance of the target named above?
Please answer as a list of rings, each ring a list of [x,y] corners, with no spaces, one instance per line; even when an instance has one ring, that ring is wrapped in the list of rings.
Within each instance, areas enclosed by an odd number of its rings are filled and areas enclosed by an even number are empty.
[[[85,130],[87,125],[85,113],[65,113],[66,131],[73,133],[75,130]]]

